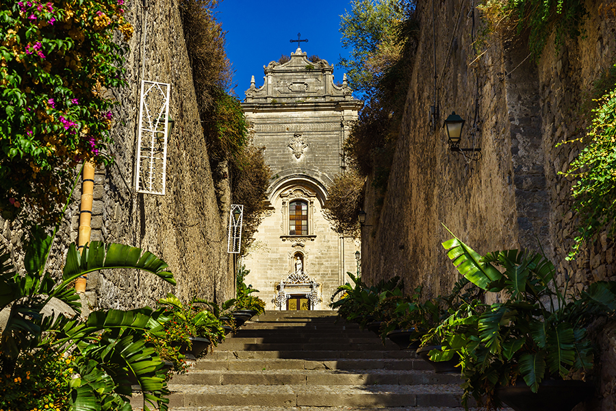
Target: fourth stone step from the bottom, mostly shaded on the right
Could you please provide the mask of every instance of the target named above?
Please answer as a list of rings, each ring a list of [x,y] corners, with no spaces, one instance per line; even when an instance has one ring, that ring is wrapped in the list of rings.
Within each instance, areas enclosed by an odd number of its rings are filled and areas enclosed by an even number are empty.
[[[225,350],[219,345],[214,351],[208,353],[206,358],[213,360],[233,360],[234,358],[245,359],[265,359],[265,358],[289,358],[296,360],[337,360],[339,358],[352,358],[355,360],[378,360],[386,358],[417,358],[415,351],[293,351],[293,350],[272,350],[272,351],[242,351]]]

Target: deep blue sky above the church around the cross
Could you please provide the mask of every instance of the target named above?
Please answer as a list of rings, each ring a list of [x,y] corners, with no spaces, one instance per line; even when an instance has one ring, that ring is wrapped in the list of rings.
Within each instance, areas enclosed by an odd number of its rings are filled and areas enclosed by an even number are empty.
[[[297,48],[301,33],[302,51],[316,54],[334,64],[334,80],[342,82],[342,69],[337,69],[339,56],[348,57],[342,48],[338,31],[340,16],[350,11],[350,0],[254,1],[224,0],[214,10],[216,20],[227,32],[227,57],[233,63],[235,94],[243,100],[251,86],[251,75],[257,87],[263,85],[263,66],[290,55]]]

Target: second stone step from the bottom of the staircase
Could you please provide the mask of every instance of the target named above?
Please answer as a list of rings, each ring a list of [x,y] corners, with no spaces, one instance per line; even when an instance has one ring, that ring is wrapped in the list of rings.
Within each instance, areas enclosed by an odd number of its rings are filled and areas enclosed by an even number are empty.
[[[175,375],[171,384],[201,385],[426,385],[460,384],[459,373],[431,371],[277,369],[257,371],[207,370]]]

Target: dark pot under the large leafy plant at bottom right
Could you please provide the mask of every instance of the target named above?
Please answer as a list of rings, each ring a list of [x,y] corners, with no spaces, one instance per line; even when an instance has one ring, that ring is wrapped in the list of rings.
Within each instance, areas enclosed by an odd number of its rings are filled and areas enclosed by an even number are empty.
[[[571,411],[594,392],[591,382],[563,379],[546,379],[537,393],[532,393],[522,379],[513,386],[496,388],[500,401],[515,411]]]

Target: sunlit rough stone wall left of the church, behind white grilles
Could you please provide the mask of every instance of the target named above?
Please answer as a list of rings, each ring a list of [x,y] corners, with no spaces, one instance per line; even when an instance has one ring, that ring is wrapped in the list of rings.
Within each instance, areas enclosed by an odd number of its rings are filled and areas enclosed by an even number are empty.
[[[227,221],[216,203],[178,3],[146,3],[148,8],[141,1],[126,3],[127,21],[135,28],[125,62],[129,86],[109,92],[118,101],[112,129],[115,162],[107,169],[97,169],[92,240],[122,242],[151,251],[169,264],[177,286],[149,273],[116,270],[90,274],[86,295],[91,307],[152,306],[166,292],[174,292],[184,301],[196,295],[220,302],[234,294]],[[169,112],[175,127],[168,140],[164,196],[137,194],[134,189],[142,79],[171,84]],[[56,272],[62,269],[66,247],[77,240],[79,192],[80,186],[49,262]],[[0,223],[2,236],[12,243],[14,260],[20,262],[21,233],[8,222]]]

